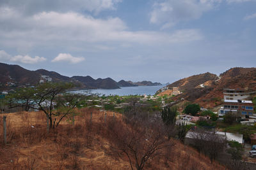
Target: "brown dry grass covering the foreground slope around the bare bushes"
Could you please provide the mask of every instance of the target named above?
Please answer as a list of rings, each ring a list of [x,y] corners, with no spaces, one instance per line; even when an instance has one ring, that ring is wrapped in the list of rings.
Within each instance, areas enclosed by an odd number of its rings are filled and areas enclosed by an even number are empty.
[[[75,117],[75,125],[63,121],[49,134],[44,113],[6,114],[6,146],[2,140],[3,115],[0,115],[0,169],[131,169],[125,155],[111,153],[113,143],[109,141],[113,139],[109,139],[108,132],[113,113],[107,113],[106,122],[104,113],[84,108]],[[117,114],[115,119],[122,122],[122,115]],[[175,139],[172,143],[163,154],[149,160],[145,169],[225,169]]]

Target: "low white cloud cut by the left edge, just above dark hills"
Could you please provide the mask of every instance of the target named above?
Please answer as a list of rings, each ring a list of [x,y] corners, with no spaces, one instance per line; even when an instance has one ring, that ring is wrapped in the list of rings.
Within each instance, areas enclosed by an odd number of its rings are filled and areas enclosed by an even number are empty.
[[[12,55],[4,52],[4,50],[0,50],[0,62],[3,61],[12,61],[12,62],[21,62],[24,64],[35,64],[37,62],[45,61],[45,57],[30,57],[29,55],[15,55],[12,57]]]

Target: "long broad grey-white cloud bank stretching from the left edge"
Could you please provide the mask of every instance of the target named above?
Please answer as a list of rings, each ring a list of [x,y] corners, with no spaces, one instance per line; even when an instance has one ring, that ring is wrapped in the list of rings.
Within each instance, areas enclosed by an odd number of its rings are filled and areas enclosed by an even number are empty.
[[[120,18],[97,19],[76,12],[51,11],[24,16],[13,8],[2,7],[0,14],[0,23],[4,25],[0,28],[0,45],[14,48],[52,44],[68,48],[74,44],[74,48],[79,48],[84,43],[109,41],[154,45],[184,43],[203,38],[198,29],[181,29],[172,33],[129,31]]]

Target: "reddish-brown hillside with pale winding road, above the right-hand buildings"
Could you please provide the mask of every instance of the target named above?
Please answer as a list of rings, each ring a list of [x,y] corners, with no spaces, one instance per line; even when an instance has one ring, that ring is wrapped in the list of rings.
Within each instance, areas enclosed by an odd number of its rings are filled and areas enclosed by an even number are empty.
[[[212,108],[221,104],[225,88],[256,90],[256,68],[234,67],[221,73],[220,77],[211,73],[198,74],[175,81],[168,87],[179,87],[183,92],[175,99],[184,98]]]

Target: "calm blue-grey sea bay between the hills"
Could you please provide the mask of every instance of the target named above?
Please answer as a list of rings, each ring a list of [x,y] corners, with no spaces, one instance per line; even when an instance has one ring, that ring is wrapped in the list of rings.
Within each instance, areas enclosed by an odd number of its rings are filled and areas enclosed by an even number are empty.
[[[138,86],[138,87],[122,87],[121,89],[95,89],[95,90],[77,90],[74,93],[84,94],[90,92],[92,94],[100,94],[105,96],[118,95],[118,96],[129,96],[129,95],[154,95],[157,90],[164,87],[164,85],[157,86]]]

